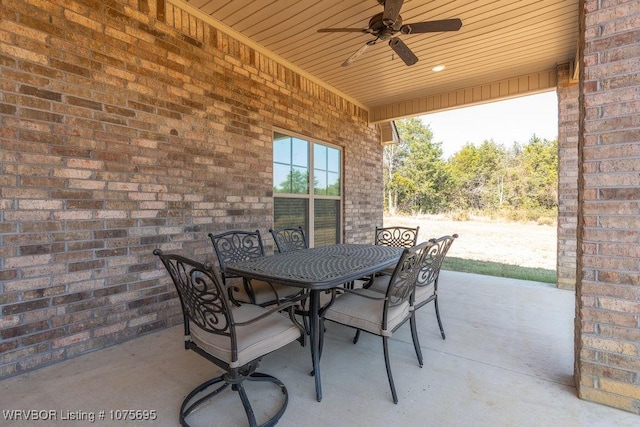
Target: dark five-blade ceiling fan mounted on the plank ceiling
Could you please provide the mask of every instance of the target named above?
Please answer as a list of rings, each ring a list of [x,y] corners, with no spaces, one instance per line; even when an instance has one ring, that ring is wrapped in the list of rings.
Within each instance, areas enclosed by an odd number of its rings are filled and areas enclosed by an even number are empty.
[[[363,33],[375,36],[375,39],[366,42],[360,49],[356,50],[342,63],[343,67],[350,65],[364,51],[380,40],[389,40],[389,46],[407,65],[413,65],[418,62],[418,57],[409,49],[409,47],[398,37],[394,37],[396,33],[401,34],[419,34],[419,33],[435,33],[441,31],[458,31],[462,27],[462,21],[455,19],[441,19],[437,21],[415,22],[413,24],[402,24],[400,9],[404,0],[377,0],[384,6],[384,12],[374,15],[369,20],[367,28],[321,28],[319,33]]]

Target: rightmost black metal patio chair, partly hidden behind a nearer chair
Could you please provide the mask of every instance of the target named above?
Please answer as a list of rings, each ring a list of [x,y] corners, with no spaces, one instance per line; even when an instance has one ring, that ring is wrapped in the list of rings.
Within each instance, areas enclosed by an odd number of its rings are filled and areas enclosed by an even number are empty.
[[[449,252],[451,244],[458,238],[457,234],[450,236],[442,236],[438,239],[431,239],[429,242],[429,250],[418,274],[416,281],[416,292],[413,301],[413,316],[411,317],[411,334],[417,336],[415,312],[433,301],[436,309],[436,319],[440,327],[440,335],[445,339],[442,320],[440,319],[440,310],[438,309],[438,277],[440,276],[440,268],[444,257]],[[422,366],[422,364],[420,364]]]

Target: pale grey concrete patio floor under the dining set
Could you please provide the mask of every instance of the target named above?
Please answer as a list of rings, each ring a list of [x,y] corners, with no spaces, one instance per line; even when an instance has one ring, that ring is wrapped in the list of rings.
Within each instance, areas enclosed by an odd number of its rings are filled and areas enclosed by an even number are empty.
[[[423,368],[417,364],[408,324],[390,343],[397,405],[391,400],[381,339],[363,334],[353,345],[351,329],[327,323],[322,402],[316,401],[309,376],[308,347],[290,344],[266,356],[260,366],[289,390],[289,405],[278,425],[640,425],[637,415],[577,398],[573,292],[448,271],[440,281],[447,339],[440,338],[430,305],[418,312]],[[3,380],[3,411],[52,410],[57,421],[10,422],[3,412],[0,425],[177,426],[184,396],[216,373],[211,363],[184,350],[182,328],[173,327]],[[281,396],[255,390],[250,397],[256,398],[257,416]],[[193,414],[193,426],[247,425],[235,393],[218,399]],[[157,419],[111,419],[110,411],[123,409],[154,410]],[[62,420],[78,415],[85,420]],[[88,415],[96,417],[93,423]]]

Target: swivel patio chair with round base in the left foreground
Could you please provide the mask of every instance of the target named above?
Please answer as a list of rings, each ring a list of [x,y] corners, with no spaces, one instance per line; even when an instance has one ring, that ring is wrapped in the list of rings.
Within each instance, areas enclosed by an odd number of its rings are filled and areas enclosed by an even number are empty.
[[[187,417],[231,386],[238,393],[249,425],[258,426],[245,389],[245,381],[274,384],[284,394],[275,414],[262,423],[273,426],[282,417],[289,401],[285,385],[277,378],[256,371],[263,356],[298,340],[300,327],[293,318],[295,301],[268,310],[255,304],[235,305],[210,263],[201,264],[180,255],[153,251],[169,272],[176,287],[184,317],[184,345],[222,368],[225,372],[202,383],[183,400],[180,425]],[[266,391],[266,390],[265,390]],[[215,424],[214,422],[210,424]]]

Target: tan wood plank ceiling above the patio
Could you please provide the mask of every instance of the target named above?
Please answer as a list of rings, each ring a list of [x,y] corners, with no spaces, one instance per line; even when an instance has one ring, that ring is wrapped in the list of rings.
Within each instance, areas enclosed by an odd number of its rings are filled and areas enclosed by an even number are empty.
[[[371,111],[536,73],[555,76],[557,64],[575,57],[578,41],[578,0],[405,0],[404,23],[460,18],[462,28],[399,34],[419,58],[412,66],[379,41],[342,67],[375,37],[317,30],[366,28],[383,11],[377,0],[183,1]],[[437,65],[445,69],[432,71]]]

